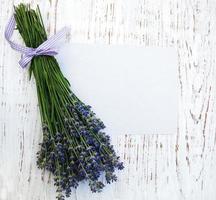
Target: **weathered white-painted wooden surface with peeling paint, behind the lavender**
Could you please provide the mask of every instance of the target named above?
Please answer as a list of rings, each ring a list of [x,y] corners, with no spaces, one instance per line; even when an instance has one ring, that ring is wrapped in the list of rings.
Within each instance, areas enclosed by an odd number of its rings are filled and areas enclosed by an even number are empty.
[[[53,200],[52,178],[35,163],[42,135],[34,81],[18,67],[19,53],[4,40],[12,5],[19,2],[27,1],[0,0],[0,200]],[[174,46],[178,51],[177,135],[116,138],[126,165],[119,182],[101,194],[91,194],[83,184],[71,199],[216,199],[216,1],[30,2],[40,5],[51,34],[71,26],[73,42]]]

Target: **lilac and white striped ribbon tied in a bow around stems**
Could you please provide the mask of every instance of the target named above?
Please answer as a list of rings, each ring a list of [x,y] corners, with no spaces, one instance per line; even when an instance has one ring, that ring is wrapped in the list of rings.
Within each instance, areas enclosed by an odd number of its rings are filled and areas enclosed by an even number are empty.
[[[22,53],[22,57],[19,61],[19,64],[22,68],[25,68],[28,65],[28,63],[32,60],[32,58],[35,56],[39,56],[39,55],[54,56],[58,54],[57,44],[62,38],[66,36],[66,34],[70,30],[68,27],[64,27],[55,35],[51,36],[45,42],[39,45],[37,48],[30,48],[30,47],[25,47],[16,44],[11,41],[11,37],[13,35],[15,26],[16,26],[16,20],[14,15],[12,15],[5,29],[5,38],[10,44],[11,48]]]

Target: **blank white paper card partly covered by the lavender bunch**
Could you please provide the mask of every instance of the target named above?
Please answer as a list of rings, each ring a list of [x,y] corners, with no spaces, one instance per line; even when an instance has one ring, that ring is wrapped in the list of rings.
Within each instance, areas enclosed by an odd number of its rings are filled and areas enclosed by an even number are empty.
[[[177,131],[177,53],[173,48],[67,44],[57,56],[72,91],[110,135]]]

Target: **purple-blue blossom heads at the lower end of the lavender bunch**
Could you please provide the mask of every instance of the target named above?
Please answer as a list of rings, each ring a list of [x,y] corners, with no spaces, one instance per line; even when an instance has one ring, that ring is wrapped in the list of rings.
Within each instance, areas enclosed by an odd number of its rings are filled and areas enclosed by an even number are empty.
[[[73,100],[73,99],[72,99]],[[67,105],[70,116],[64,120],[65,132],[53,137],[44,129],[44,139],[38,153],[38,166],[55,175],[55,185],[60,200],[71,194],[80,181],[88,181],[92,192],[101,192],[105,175],[106,183],[117,181],[115,169],[122,170],[123,163],[116,156],[110,137],[101,130],[103,123],[96,118],[89,106],[77,102]],[[94,128],[91,128],[94,127]],[[98,128],[96,128],[98,127]]]

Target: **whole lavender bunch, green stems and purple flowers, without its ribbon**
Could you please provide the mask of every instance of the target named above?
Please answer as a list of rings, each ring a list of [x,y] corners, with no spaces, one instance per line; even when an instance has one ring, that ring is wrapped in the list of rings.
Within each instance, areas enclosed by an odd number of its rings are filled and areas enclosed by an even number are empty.
[[[36,48],[47,40],[39,7],[20,4],[15,8],[17,29],[25,45]],[[116,169],[123,169],[103,122],[91,107],[71,91],[67,79],[53,56],[36,56],[29,67],[37,86],[43,141],[37,165],[54,175],[57,199],[63,200],[87,181],[92,192],[117,180]],[[101,181],[101,175],[105,181]]]

